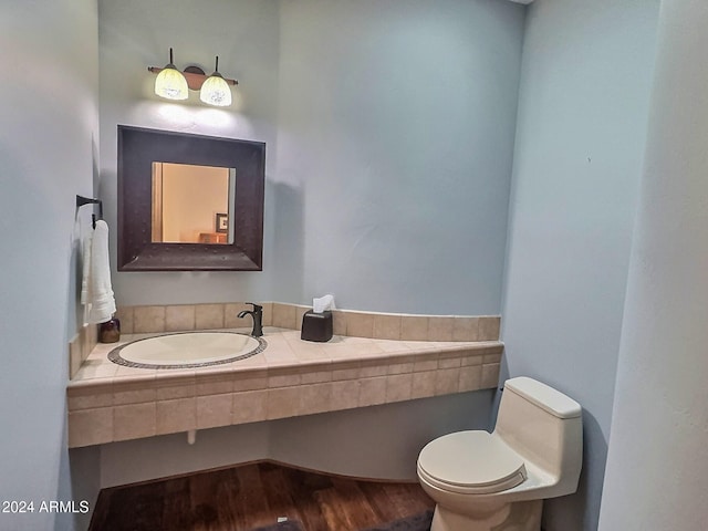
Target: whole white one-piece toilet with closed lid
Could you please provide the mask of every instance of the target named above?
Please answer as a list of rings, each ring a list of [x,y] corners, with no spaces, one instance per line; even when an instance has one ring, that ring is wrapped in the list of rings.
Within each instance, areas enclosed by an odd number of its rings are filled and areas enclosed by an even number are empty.
[[[418,480],[437,506],[431,531],[539,531],[543,499],[575,492],[582,408],[528,377],[508,379],[494,431],[459,431],[420,450]]]

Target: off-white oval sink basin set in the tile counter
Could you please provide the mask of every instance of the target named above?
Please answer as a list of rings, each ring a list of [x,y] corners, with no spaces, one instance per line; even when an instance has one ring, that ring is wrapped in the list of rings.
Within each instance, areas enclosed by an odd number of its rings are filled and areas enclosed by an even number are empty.
[[[260,337],[236,332],[184,332],[136,340],[108,353],[118,365],[142,368],[204,367],[262,352]]]

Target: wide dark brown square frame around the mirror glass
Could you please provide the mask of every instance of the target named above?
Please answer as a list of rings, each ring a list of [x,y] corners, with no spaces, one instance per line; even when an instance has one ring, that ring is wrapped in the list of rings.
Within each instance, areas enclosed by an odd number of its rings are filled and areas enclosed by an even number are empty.
[[[153,162],[236,168],[233,243],[153,243]],[[261,271],[266,144],[118,125],[118,271]]]

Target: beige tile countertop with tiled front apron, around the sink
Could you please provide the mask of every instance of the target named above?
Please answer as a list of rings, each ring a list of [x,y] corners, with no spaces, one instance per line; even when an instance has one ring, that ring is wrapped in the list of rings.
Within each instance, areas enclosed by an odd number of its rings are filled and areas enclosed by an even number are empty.
[[[229,329],[249,333],[250,329]],[[250,421],[493,388],[503,344],[334,336],[264,327],[266,350],[198,368],[134,368],[98,344],[66,388],[69,446],[81,447]]]

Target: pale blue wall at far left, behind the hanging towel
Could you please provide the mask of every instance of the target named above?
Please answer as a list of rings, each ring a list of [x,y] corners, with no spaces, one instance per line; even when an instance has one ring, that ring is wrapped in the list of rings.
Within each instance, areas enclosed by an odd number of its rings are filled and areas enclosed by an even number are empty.
[[[96,28],[93,0],[0,3],[0,500],[35,503],[0,512],[2,530],[73,529],[40,504],[85,496],[70,479],[64,396],[88,220],[74,222],[75,195],[93,194],[97,164]]]

